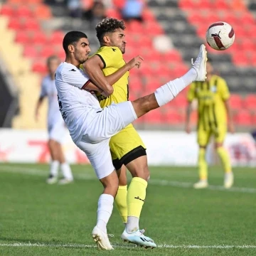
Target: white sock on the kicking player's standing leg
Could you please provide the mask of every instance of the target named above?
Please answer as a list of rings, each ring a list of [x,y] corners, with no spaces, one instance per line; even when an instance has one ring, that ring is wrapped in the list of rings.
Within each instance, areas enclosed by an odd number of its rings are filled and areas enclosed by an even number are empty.
[[[102,194],[98,201],[97,208],[97,227],[107,233],[107,223],[113,210],[114,197],[108,194]]]

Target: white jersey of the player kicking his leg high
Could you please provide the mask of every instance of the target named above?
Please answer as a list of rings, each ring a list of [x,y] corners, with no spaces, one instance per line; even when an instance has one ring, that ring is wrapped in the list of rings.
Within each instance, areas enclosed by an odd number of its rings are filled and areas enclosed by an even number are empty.
[[[95,95],[82,87],[90,79],[70,63],[61,63],[55,74],[60,112],[74,142],[78,142],[95,117],[95,110],[102,110]]]

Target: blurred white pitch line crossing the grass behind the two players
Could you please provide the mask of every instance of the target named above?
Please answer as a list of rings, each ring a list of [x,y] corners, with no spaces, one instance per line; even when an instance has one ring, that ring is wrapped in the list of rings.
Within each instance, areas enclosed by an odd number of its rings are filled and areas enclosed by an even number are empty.
[[[8,171],[15,174],[31,174],[36,176],[45,176],[46,171],[42,171],[41,169],[35,168],[27,168],[27,167],[18,167],[18,166],[6,166],[0,165],[0,171]],[[90,174],[75,174],[76,179],[83,179],[83,180],[96,180],[96,176]],[[167,181],[167,180],[160,180],[160,179],[150,179],[149,183],[152,185],[159,185],[159,186],[172,186],[176,188],[192,188],[193,183],[190,182],[181,182],[181,181]],[[229,189],[224,188],[223,186],[213,186],[210,185],[208,188],[212,191],[226,191],[226,192],[239,192],[239,193],[256,193],[256,188],[239,188],[239,187],[232,187]]]

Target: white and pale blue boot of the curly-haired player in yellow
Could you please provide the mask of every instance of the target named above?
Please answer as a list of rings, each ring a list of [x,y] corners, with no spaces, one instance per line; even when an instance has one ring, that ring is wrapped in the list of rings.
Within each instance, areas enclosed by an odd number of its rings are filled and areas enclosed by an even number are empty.
[[[135,245],[140,245],[141,247],[151,249],[155,248],[156,244],[154,240],[143,235],[144,232],[145,230],[137,230],[133,233],[127,233],[126,228],[124,228],[124,232],[122,233],[121,238],[124,240],[124,242],[132,242]]]

